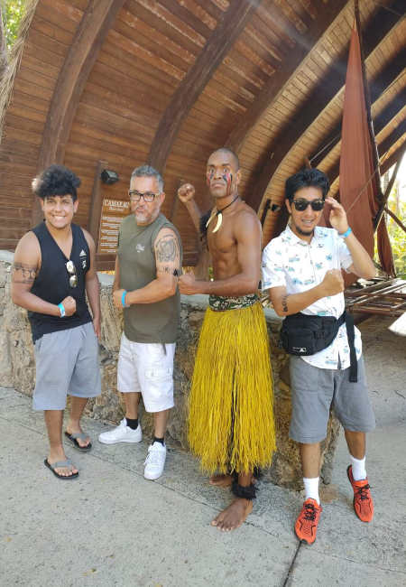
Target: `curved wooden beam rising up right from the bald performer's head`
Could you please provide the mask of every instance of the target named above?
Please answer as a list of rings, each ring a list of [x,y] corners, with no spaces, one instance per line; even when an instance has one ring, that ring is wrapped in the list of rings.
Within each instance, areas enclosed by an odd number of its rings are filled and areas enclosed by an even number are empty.
[[[235,153],[241,150],[245,138],[251,133],[254,126],[270,107],[272,100],[278,98],[281,94],[283,87],[291,79],[291,76],[298,69],[300,63],[346,6],[347,0],[335,0],[334,2],[328,2],[328,5],[322,4],[321,2],[319,4],[318,18],[309,25],[307,35],[303,37],[303,35],[297,33],[295,38],[297,44],[295,48],[291,51],[287,59],[281,62],[279,70],[273,73],[271,79],[269,79],[268,83],[254,99],[251,107],[242,116],[240,124],[235,126],[228,136],[226,145],[235,151]]]

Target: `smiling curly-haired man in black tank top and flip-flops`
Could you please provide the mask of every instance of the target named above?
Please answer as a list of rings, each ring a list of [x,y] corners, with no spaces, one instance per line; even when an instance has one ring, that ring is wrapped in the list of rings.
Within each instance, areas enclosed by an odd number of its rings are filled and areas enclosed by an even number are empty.
[[[36,364],[32,403],[34,409],[44,411],[50,441],[44,464],[62,480],[78,477],[62,444],[67,394],[71,407],[65,435],[82,452],[89,451],[91,443],[80,427],[80,417],[88,397],[100,394],[95,244],[86,230],[72,224],[79,184],[78,177],[62,165],[51,165],[33,180],[44,222],[21,238],[12,275],[13,302],[28,310],[32,326]]]

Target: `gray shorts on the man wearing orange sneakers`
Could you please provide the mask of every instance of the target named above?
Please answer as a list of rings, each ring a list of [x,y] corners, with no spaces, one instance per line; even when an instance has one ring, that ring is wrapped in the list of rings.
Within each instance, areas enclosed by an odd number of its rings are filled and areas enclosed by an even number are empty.
[[[358,360],[358,381],[350,383],[349,368],[313,367],[291,356],[290,437],[303,444],[319,443],[327,435],[330,407],[345,430],[371,432],[375,416],[366,386],[364,359]]]

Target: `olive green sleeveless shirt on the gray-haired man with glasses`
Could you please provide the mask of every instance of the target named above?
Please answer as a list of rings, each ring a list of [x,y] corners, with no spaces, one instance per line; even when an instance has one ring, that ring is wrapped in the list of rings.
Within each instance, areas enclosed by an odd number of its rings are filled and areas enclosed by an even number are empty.
[[[138,226],[134,214],[127,216],[120,227],[118,261],[120,287],[128,292],[150,284],[156,278],[153,243],[161,228],[171,228],[178,237],[180,266],[182,248],[178,230],[162,214],[148,226]],[[180,318],[180,293],[155,303],[134,303],[124,308],[124,331],[133,342],[170,343],[177,339]]]

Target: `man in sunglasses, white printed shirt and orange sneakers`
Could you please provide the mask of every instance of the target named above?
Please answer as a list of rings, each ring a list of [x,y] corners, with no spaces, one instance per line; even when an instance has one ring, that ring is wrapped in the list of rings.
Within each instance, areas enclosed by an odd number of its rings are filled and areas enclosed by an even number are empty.
[[[285,201],[291,222],[263,251],[263,289],[270,290],[273,307],[280,316],[300,312],[338,319],[345,310],[341,269],[364,278],[375,274],[371,257],[348,227],[346,211],[333,198],[326,198],[328,189],[326,174],[317,169],[298,172],[286,182]],[[331,207],[329,221],[333,228],[317,226],[326,203]],[[342,323],[327,348],[309,356],[291,355],[291,392],[290,436],[300,443],[305,487],[295,532],[300,540],[311,544],[322,511],[318,496],[319,443],[326,438],[330,406],[346,433],[351,460],[347,475],[354,490],[355,514],[364,522],[374,516],[365,471],[365,433],[374,429],[375,422],[360,332],[355,328],[354,345],[350,345],[346,323]]]

